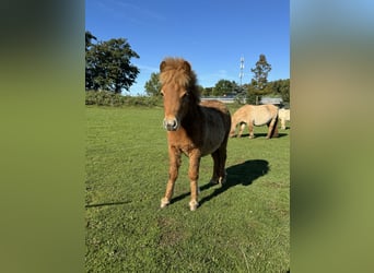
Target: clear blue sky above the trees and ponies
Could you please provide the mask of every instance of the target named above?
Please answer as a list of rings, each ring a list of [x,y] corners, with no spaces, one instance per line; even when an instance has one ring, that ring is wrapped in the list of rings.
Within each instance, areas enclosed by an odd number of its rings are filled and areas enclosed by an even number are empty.
[[[188,60],[199,84],[221,80],[242,82],[260,54],[272,70],[269,81],[290,78],[289,0],[86,0],[85,29],[98,40],[126,38],[140,56],[140,69],[130,94],[144,94],[152,72],[165,57]]]

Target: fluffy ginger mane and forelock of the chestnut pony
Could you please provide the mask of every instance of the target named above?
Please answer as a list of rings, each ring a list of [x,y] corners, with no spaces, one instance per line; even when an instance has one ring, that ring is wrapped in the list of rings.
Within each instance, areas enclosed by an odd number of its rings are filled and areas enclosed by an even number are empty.
[[[175,83],[185,86],[197,102],[200,102],[200,93],[197,86],[197,78],[190,64],[182,58],[165,58],[160,64],[161,84]]]

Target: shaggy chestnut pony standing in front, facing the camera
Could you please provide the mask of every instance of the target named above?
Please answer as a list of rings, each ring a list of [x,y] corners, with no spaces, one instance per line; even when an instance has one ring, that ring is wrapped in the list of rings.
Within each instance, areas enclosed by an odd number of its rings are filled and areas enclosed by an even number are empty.
[[[191,199],[189,209],[198,203],[200,158],[211,154],[214,162],[210,183],[225,182],[225,162],[231,116],[218,100],[200,103],[197,79],[191,66],[179,58],[166,58],[160,64],[164,100],[164,128],[168,143],[168,181],[161,207],[170,204],[182,164],[182,153],[189,157],[188,177]]]

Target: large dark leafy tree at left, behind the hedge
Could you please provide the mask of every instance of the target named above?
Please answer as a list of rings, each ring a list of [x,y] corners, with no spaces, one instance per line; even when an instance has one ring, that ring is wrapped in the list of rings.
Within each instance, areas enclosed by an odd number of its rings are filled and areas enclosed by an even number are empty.
[[[130,61],[139,58],[125,38],[92,44],[95,37],[85,34],[85,88],[115,93],[128,91],[135,83],[139,69]]]

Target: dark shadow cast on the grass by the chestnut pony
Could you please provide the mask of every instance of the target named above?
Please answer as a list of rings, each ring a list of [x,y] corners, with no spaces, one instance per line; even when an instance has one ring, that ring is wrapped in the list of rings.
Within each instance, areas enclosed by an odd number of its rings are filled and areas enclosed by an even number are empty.
[[[199,201],[199,205],[201,206],[204,202],[208,202],[214,197],[218,197],[222,192],[225,192],[232,187],[236,185],[249,186],[255,181],[257,178],[265,176],[269,171],[269,163],[264,159],[254,159],[254,161],[246,161],[241,164],[236,164],[226,168],[227,178],[226,182],[222,185],[222,187],[215,189],[210,195],[204,197]],[[207,190],[211,187],[217,185],[207,183],[200,187],[200,191]],[[218,186],[219,187],[219,186]],[[177,202],[179,200],[185,199],[190,193],[186,192],[178,197],[172,199],[171,203]]]

